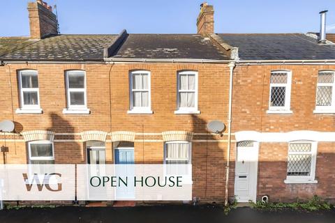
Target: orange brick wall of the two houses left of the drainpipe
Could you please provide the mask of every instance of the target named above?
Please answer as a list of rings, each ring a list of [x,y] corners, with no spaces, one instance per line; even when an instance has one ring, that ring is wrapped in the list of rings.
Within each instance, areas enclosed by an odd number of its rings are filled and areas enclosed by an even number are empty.
[[[0,67],[0,120],[13,119],[22,125],[23,131],[50,130],[56,133],[80,133],[87,130],[113,132],[128,130],[137,133],[158,135],[135,138],[135,163],[162,164],[163,131],[186,130],[206,133],[211,120],[226,123],[229,92],[229,68],[220,64],[202,63],[137,63],[115,64],[24,64]],[[19,107],[17,70],[38,70],[40,106],[43,114],[15,114]],[[86,70],[87,105],[91,114],[63,114],[66,107],[64,71]],[[154,114],[127,114],[129,109],[128,73],[130,70],[151,71],[151,110]],[[9,72],[10,70],[10,72]],[[174,114],[177,104],[177,71],[198,71],[198,108],[201,114]],[[13,111],[10,81],[13,86]],[[110,94],[111,91],[111,94]],[[110,125],[110,97],[112,125]],[[9,139],[9,137],[7,137]],[[11,138],[10,138],[11,139]],[[8,143],[7,163],[27,163],[27,148],[22,137],[16,138],[16,153],[13,139]],[[59,141],[69,139],[72,141]],[[79,141],[78,141],[79,139]],[[110,136],[107,136],[110,140]],[[226,136],[211,134],[195,135],[192,144],[193,197],[201,201],[223,201],[225,185]],[[206,143],[206,139],[209,139]],[[218,141],[218,140],[221,141]],[[58,141],[57,141],[58,140]],[[74,141],[77,140],[77,141]],[[151,140],[151,141],[150,141]],[[1,144],[4,142],[1,141]],[[56,163],[86,163],[86,151],[80,136],[56,135],[54,142]],[[112,144],[106,144],[107,163],[113,163]],[[3,163],[3,159],[0,159]],[[206,174],[207,173],[207,174]]]

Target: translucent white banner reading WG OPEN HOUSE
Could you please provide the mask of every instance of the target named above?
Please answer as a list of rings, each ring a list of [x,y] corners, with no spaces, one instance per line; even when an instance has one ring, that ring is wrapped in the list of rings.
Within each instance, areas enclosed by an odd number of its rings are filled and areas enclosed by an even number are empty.
[[[79,201],[190,201],[192,165],[0,165],[4,201],[74,201],[75,197]]]

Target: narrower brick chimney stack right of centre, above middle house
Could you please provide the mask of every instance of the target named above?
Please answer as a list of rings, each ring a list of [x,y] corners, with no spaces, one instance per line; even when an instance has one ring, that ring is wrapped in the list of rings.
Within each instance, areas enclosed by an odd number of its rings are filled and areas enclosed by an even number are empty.
[[[197,20],[198,34],[214,33],[214,7],[207,2],[200,5],[200,13]]]

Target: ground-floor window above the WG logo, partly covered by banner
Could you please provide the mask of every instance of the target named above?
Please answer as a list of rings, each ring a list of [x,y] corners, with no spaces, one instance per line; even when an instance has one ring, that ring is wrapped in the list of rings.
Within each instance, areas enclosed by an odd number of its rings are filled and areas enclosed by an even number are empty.
[[[29,141],[29,164],[54,164],[54,145],[51,141]]]

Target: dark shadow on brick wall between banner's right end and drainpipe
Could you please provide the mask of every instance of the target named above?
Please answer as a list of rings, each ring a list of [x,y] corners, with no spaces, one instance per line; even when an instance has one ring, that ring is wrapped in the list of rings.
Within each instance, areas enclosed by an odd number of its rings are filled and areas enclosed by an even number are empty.
[[[201,115],[191,115],[193,123],[192,165],[193,197],[200,200],[223,201],[225,199],[225,153],[227,142],[218,141],[224,138],[212,134],[207,129],[206,121]],[[220,120],[224,123],[223,120]],[[206,132],[204,134],[204,132]],[[202,133],[202,134],[196,134]]]

